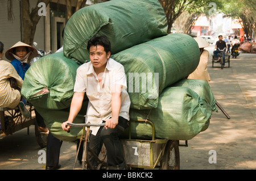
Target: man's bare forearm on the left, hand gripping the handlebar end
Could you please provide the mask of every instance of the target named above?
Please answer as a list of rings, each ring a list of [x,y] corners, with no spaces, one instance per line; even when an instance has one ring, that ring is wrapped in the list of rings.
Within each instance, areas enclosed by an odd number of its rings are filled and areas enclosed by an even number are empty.
[[[73,123],[73,120],[75,119],[76,115],[79,113],[82,107],[82,101],[84,100],[84,94],[85,92],[74,92],[72,101],[71,101],[71,107],[69,111],[68,120],[65,121],[63,124],[61,124],[61,127],[64,131],[69,131],[70,126],[67,125],[68,123]],[[67,126],[67,128],[66,128]]]

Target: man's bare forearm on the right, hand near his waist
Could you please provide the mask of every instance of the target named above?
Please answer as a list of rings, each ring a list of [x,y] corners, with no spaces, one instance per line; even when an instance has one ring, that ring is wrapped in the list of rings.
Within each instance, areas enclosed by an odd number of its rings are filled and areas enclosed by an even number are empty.
[[[115,128],[118,124],[118,117],[121,108],[121,91],[122,85],[113,85],[114,91],[112,92],[112,100],[111,100],[111,107],[112,107],[112,117],[106,120],[105,128]]]

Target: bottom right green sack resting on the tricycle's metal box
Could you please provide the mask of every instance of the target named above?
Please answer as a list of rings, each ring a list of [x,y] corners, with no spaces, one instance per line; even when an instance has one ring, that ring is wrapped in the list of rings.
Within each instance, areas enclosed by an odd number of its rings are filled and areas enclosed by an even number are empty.
[[[167,87],[159,96],[157,108],[130,110],[131,138],[150,139],[151,124],[138,122],[148,118],[154,124],[155,138],[191,140],[209,127],[212,107],[187,87]],[[133,121],[135,120],[135,121]],[[129,129],[122,137],[129,136]]]

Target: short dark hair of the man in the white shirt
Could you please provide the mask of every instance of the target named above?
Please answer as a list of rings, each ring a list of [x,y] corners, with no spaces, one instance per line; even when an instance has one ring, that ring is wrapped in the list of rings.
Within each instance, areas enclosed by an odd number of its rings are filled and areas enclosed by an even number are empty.
[[[102,47],[104,47],[104,50],[106,53],[110,52],[111,50],[111,44],[110,41],[108,39],[108,37],[106,37],[105,35],[102,36],[93,36],[87,44],[87,49],[89,50],[90,47],[92,46],[96,46],[97,45],[101,45]]]

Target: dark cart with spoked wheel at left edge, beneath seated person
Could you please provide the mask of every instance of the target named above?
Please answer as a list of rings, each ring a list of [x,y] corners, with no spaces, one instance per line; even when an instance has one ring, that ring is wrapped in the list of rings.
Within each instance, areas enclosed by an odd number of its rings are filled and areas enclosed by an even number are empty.
[[[30,125],[35,125],[35,137],[38,144],[44,148],[47,144],[48,134],[42,134],[38,131],[36,123],[35,108],[31,103],[26,104],[26,108],[30,111],[30,118],[26,119],[22,116],[18,107],[6,108],[0,107],[1,128],[0,135],[9,136],[21,129],[27,128],[27,134],[30,134]]]

